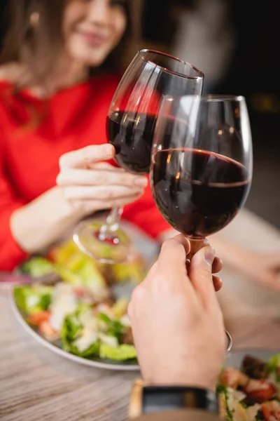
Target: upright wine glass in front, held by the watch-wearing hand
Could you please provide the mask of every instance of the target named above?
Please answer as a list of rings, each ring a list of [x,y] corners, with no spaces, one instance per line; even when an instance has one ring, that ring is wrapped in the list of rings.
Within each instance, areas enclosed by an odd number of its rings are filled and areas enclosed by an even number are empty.
[[[251,187],[253,155],[242,96],[167,97],[158,115],[151,163],[155,203],[188,237],[193,255],[228,225]]]

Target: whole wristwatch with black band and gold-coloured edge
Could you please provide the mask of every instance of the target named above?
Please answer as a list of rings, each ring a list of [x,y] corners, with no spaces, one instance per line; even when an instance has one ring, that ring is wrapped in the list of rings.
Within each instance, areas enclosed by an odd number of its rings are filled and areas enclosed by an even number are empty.
[[[199,410],[208,419],[218,419],[219,404],[216,393],[208,389],[182,386],[151,386],[137,380],[132,386],[129,417],[165,413],[172,410]]]

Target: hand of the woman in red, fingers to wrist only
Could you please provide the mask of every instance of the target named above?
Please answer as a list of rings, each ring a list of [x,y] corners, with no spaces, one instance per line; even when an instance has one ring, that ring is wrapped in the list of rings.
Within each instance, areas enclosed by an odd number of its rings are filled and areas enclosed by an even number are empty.
[[[145,176],[127,173],[104,161],[115,155],[112,145],[88,146],[59,159],[57,185],[82,216],[113,207],[123,207],[144,193]]]

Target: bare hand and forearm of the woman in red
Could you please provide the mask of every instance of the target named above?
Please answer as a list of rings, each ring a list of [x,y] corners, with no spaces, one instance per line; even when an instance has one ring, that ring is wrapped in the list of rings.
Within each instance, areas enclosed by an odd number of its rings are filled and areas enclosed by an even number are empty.
[[[40,253],[90,213],[124,206],[141,196],[147,178],[104,162],[114,154],[112,145],[100,145],[60,158],[58,186],[15,210],[10,219],[13,236],[23,250]]]

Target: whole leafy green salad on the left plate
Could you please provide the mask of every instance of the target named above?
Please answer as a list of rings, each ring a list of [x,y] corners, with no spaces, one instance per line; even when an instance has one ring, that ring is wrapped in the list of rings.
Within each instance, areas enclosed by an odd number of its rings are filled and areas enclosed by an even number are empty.
[[[57,276],[54,286],[36,282],[14,290],[22,315],[43,338],[87,359],[136,360],[128,300],[113,300],[111,284],[141,282],[146,274],[141,258],[101,265],[67,241],[45,257],[31,258],[20,270],[34,278]]]

